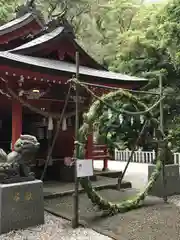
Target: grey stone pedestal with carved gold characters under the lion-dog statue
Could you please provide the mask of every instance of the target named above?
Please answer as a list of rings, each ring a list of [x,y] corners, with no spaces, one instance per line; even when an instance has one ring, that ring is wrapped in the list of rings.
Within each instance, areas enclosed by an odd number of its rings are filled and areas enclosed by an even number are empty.
[[[43,223],[42,181],[0,184],[0,234]]]

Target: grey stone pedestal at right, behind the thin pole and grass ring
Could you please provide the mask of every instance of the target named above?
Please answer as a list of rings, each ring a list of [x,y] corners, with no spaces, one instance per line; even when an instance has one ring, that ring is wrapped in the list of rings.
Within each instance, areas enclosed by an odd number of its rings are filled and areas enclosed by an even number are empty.
[[[154,164],[148,166],[148,179],[150,178],[154,169],[155,169]],[[179,165],[178,164],[166,165],[165,175],[166,175],[166,182],[167,182],[166,184],[167,196],[180,194]],[[157,197],[162,197],[164,195],[162,171],[149,194]]]

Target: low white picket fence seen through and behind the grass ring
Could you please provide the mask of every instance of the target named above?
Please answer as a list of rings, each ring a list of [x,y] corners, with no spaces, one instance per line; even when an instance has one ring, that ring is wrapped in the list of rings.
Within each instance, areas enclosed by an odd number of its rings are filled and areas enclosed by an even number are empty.
[[[124,151],[118,151],[115,149],[115,160],[116,161],[128,161],[131,155],[131,151],[126,149]],[[135,163],[152,163],[155,159],[155,151],[135,151],[131,162]],[[180,153],[174,153],[174,163],[180,165]]]

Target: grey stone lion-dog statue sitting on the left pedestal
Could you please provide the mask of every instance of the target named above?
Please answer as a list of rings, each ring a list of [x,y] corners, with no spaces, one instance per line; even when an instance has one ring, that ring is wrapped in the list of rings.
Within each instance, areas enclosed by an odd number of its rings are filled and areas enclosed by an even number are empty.
[[[0,183],[34,180],[29,165],[35,158],[39,145],[36,137],[21,135],[14,144],[14,151],[6,154],[0,149]]]

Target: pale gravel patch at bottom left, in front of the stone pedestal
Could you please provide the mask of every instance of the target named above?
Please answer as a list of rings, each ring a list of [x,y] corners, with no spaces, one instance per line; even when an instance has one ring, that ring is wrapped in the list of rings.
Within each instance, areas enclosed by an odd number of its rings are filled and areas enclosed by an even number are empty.
[[[0,240],[111,240],[111,238],[88,228],[73,230],[69,221],[45,213],[44,225],[3,234]]]

